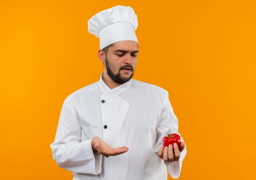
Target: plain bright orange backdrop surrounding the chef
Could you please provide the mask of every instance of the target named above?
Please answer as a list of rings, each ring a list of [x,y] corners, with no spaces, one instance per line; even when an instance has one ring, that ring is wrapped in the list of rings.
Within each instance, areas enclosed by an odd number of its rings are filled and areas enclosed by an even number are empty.
[[[138,16],[133,78],[166,89],[179,119],[180,180],[253,179],[256,1],[126,2],[0,1],[0,179],[72,180],[49,145],[65,98],[103,71],[87,21],[118,4]]]

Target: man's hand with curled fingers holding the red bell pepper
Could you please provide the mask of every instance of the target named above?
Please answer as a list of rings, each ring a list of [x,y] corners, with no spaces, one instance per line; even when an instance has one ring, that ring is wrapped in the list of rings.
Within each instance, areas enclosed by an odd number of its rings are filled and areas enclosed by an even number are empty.
[[[173,162],[180,159],[180,153],[185,148],[185,143],[182,142],[180,144],[180,150],[178,148],[178,145],[176,143],[173,144],[173,146],[170,144],[169,147],[164,147],[163,145],[158,150],[158,156],[159,158],[163,159],[167,162]],[[173,154],[174,149],[174,154]]]

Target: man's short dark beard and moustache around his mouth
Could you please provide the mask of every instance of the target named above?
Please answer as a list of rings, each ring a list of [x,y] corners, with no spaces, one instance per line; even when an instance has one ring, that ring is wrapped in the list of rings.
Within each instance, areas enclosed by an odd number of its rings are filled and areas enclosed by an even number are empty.
[[[105,60],[105,64],[106,64],[106,69],[107,69],[107,74],[108,74],[108,76],[109,76],[114,82],[116,82],[116,83],[120,83],[120,84],[126,83],[126,82],[128,82],[128,81],[132,78],[132,76],[133,76],[133,74],[134,74],[134,69],[133,69],[132,65],[130,65],[130,64],[127,64],[127,65],[125,65],[125,66],[123,66],[123,67],[120,67],[119,72],[118,72],[117,74],[114,74],[114,72],[110,69],[110,66],[109,66],[108,58],[107,58],[107,57],[106,57],[106,60]],[[124,77],[121,76],[120,71],[121,71],[122,69],[124,69],[124,68],[127,68],[127,67],[130,67],[130,69],[131,69],[131,71],[132,71],[132,74],[131,74],[130,77],[124,78]]]

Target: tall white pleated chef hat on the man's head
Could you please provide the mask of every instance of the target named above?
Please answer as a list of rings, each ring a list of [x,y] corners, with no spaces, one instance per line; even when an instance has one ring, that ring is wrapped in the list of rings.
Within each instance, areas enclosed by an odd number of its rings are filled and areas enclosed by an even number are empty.
[[[130,6],[117,5],[100,11],[88,20],[88,31],[99,38],[100,49],[123,40],[138,43],[137,27],[137,15]]]

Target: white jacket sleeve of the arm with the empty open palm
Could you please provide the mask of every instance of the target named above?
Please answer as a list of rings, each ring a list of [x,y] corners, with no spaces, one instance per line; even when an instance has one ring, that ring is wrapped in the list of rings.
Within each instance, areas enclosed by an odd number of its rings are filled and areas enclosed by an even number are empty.
[[[52,157],[58,166],[75,173],[97,175],[101,172],[102,155],[93,154],[90,140],[81,141],[81,123],[76,110],[66,99],[61,109]]]

